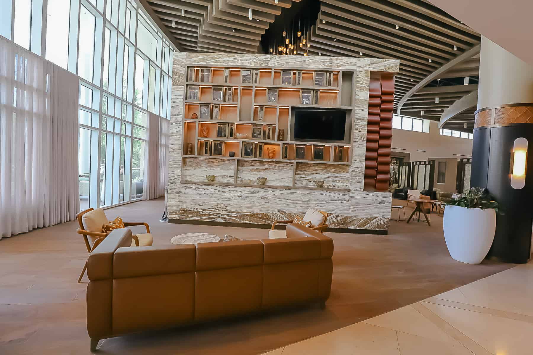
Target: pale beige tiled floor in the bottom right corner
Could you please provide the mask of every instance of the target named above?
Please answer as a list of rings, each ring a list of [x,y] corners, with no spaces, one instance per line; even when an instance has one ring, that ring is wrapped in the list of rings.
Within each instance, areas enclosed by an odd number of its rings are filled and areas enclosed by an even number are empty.
[[[533,354],[533,262],[263,355]]]

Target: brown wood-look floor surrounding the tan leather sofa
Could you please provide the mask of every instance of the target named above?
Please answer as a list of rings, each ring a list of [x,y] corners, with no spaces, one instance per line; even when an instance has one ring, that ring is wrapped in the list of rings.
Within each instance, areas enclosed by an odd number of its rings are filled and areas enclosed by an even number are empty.
[[[405,204],[394,201],[393,204]],[[162,200],[106,210],[108,218],[146,221],[154,244],[188,232],[266,238],[268,230],[159,223]],[[407,217],[412,209],[406,209]],[[397,218],[393,211],[393,218]],[[403,214],[402,214],[403,217]],[[100,342],[102,354],[259,354],[357,323],[511,268],[450,258],[442,217],[391,222],[389,235],[327,233],[333,238],[332,293],[326,309],[308,307],[188,329],[144,333]],[[87,354],[87,251],[77,222],[0,240],[0,354]],[[147,300],[142,300],[147,301]],[[148,300],[149,301],[149,300]],[[132,312],[135,310],[132,309]]]

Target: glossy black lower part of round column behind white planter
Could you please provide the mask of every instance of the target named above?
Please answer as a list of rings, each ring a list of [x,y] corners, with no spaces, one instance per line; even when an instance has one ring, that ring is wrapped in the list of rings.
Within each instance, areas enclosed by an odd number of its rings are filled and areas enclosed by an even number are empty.
[[[477,115],[479,112],[482,110]],[[514,141],[519,137],[526,138],[529,143],[526,185],[514,189],[511,187],[511,153]],[[533,196],[533,124],[507,123],[475,128],[470,186],[486,187],[504,213],[496,216],[496,234],[488,256],[506,262],[527,262],[533,225],[533,208],[530,208]]]

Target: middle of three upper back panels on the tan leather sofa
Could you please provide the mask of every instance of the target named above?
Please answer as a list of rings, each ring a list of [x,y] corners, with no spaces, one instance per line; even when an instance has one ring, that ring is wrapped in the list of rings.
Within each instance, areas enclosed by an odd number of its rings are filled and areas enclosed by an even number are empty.
[[[229,269],[263,263],[261,241],[199,243],[196,245],[196,271]]]

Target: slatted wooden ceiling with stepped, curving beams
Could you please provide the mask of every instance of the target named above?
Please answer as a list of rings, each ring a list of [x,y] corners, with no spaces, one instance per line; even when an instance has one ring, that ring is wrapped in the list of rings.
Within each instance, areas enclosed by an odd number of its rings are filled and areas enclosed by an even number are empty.
[[[174,36],[176,47],[184,51],[263,53],[260,40],[265,30],[281,20],[277,15],[293,1],[300,0],[279,0],[278,4],[274,0],[146,1]],[[248,19],[249,9],[252,20]],[[320,13],[309,39],[310,48],[296,47],[300,54],[308,49],[309,55],[399,59],[395,108],[415,85],[481,41],[477,32],[425,0],[320,0]],[[474,56],[435,79],[478,72],[479,56]],[[438,104],[422,87],[402,104],[401,113],[422,117],[424,108],[423,118],[439,120],[449,105],[472,92],[472,86],[461,86],[441,94]]]

